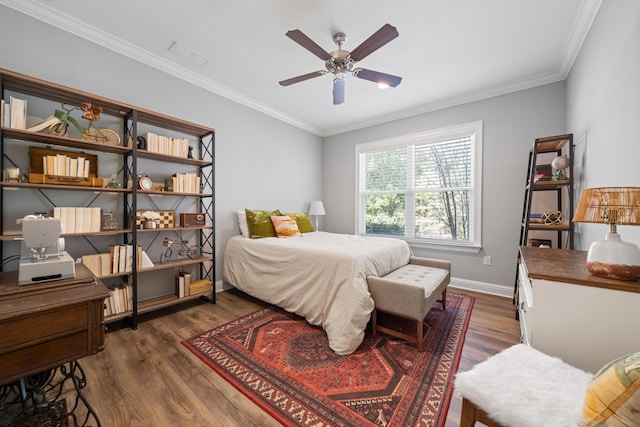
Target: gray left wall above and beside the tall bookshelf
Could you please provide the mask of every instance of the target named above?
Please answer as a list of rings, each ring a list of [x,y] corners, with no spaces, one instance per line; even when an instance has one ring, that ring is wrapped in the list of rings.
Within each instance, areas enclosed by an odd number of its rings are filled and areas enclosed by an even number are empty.
[[[316,135],[4,6],[0,39],[2,68],[216,129],[218,280],[222,249],[238,233],[235,210],[302,211],[321,198],[322,139]],[[283,155],[292,152],[295,161]]]

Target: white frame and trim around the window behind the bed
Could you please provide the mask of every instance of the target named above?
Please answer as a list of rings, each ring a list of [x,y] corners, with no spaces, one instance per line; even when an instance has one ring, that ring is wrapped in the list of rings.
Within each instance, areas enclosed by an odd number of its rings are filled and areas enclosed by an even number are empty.
[[[363,171],[360,168],[360,155],[371,152],[380,151],[381,149],[392,149],[413,144],[424,144],[425,142],[437,142],[442,140],[455,139],[462,136],[472,136],[471,144],[471,162],[472,162],[472,182],[471,182],[471,215],[472,218],[472,241],[456,242],[442,241],[432,239],[416,239],[399,237],[407,240],[412,247],[424,249],[446,249],[456,252],[474,252],[477,253],[482,248],[482,120],[464,123],[446,128],[433,129],[424,132],[413,133],[409,135],[401,135],[393,138],[386,138],[377,141],[357,144],[355,146],[355,185],[356,185],[356,209],[355,209],[355,230],[357,234],[365,235],[365,218],[361,216],[361,204],[363,197],[361,196],[361,182],[364,179]],[[406,227],[413,223],[413,219],[407,219]]]

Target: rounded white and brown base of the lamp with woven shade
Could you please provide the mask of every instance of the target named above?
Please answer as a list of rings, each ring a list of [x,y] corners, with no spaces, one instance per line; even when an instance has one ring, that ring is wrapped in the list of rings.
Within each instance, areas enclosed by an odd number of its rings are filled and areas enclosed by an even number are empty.
[[[608,233],[606,240],[589,247],[587,270],[608,279],[640,280],[640,249],[623,242],[618,233]]]

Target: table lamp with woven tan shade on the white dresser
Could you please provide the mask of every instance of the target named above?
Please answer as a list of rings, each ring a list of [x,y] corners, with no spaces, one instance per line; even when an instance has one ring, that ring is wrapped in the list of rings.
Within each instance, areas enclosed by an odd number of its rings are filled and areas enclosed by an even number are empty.
[[[617,225],[640,225],[640,187],[587,188],[582,192],[574,222],[609,224],[604,241],[593,242],[587,270],[600,277],[640,280],[640,249],[623,242]]]

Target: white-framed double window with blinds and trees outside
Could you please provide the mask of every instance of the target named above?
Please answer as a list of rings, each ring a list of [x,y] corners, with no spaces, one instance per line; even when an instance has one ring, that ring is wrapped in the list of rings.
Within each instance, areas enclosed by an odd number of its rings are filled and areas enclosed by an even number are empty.
[[[359,234],[479,248],[482,122],[356,146]]]

